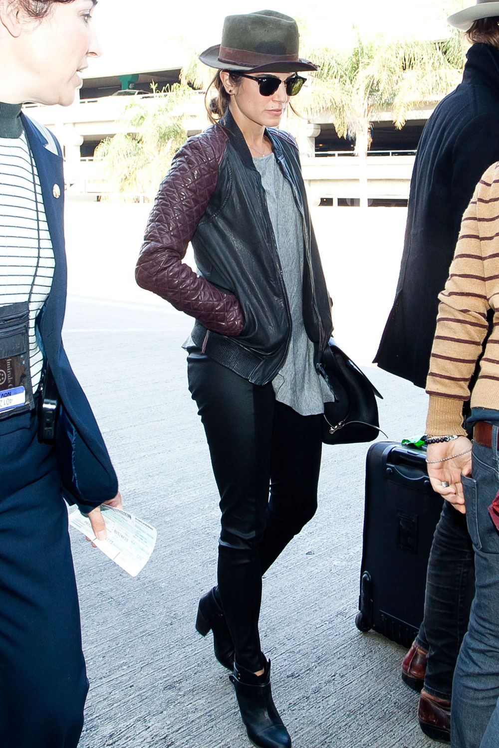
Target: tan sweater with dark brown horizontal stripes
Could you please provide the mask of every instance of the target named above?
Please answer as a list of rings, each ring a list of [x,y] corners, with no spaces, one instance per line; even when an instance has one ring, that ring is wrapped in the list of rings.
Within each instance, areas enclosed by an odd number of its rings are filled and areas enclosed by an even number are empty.
[[[449,279],[438,298],[426,380],[426,433],[465,434],[462,405],[470,399],[469,381],[488,330],[489,308],[494,310],[494,328],[471,407],[499,410],[499,162],[483,174],[463,215]]]

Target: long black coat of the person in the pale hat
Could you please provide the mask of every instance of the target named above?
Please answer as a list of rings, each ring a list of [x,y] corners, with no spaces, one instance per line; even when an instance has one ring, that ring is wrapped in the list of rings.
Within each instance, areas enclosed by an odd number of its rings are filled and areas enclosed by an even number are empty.
[[[467,58],[462,83],[435,108],[417,147],[397,292],[374,359],[418,387],[426,384],[462,214],[499,161],[499,50],[477,43]]]

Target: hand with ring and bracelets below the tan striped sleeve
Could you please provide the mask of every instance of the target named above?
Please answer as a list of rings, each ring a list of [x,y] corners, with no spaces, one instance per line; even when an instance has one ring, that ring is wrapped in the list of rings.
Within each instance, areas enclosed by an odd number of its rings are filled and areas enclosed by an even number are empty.
[[[454,509],[465,514],[461,473],[471,475],[471,441],[465,436],[460,436],[459,439],[452,441],[429,444],[426,450],[426,460],[433,490],[450,501]],[[435,460],[442,462],[434,462]],[[445,483],[449,485],[444,485]]]

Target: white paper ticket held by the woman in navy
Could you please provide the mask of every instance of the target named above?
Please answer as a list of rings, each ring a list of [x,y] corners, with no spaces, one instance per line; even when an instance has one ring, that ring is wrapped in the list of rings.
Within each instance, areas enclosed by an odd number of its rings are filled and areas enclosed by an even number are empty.
[[[90,539],[111,561],[136,577],[146,565],[156,544],[156,530],[150,524],[114,506],[101,504],[100,510],[105,519],[107,537],[99,540],[95,536],[91,522],[76,507],[70,509],[70,525],[76,527]]]

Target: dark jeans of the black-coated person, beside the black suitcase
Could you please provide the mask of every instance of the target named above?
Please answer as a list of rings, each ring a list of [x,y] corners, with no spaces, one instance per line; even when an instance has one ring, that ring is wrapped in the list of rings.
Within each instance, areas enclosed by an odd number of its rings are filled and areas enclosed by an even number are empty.
[[[474,553],[466,515],[444,502],[426,574],[424,620],[417,643],[428,649],[425,690],[450,699],[456,660],[474,596]]]

